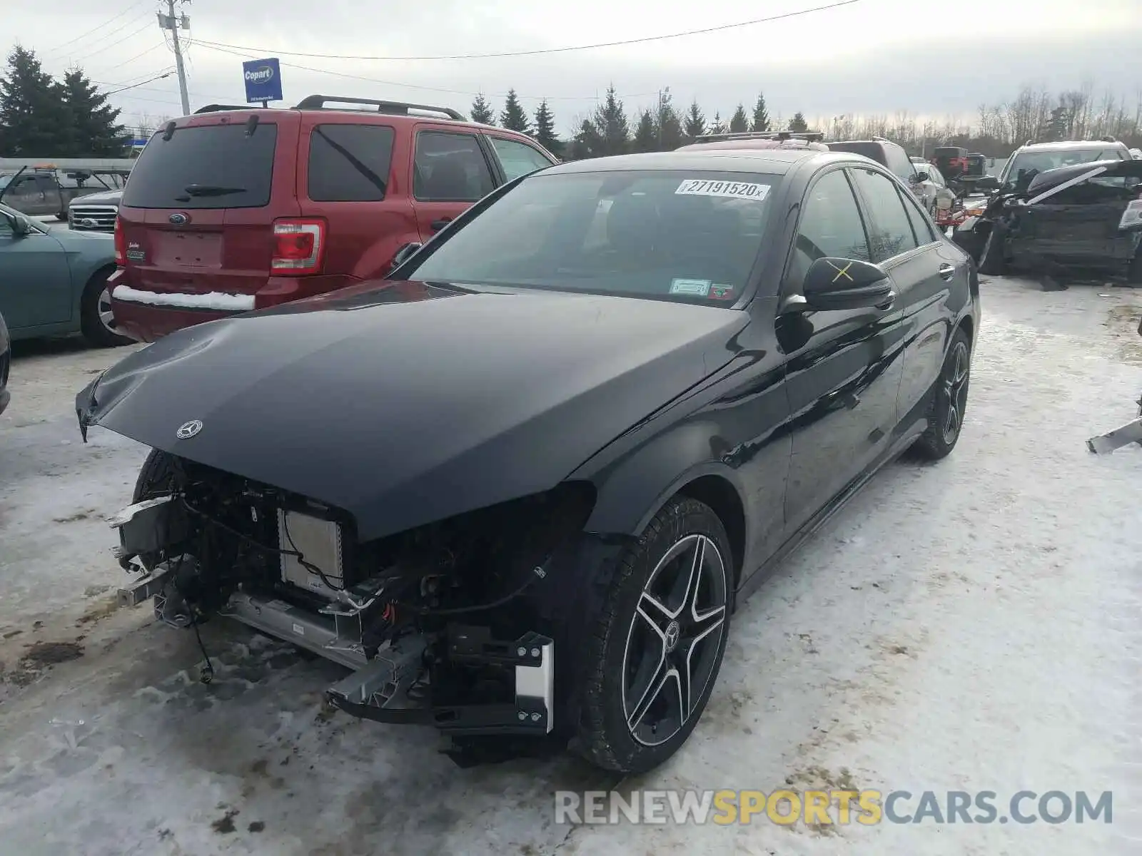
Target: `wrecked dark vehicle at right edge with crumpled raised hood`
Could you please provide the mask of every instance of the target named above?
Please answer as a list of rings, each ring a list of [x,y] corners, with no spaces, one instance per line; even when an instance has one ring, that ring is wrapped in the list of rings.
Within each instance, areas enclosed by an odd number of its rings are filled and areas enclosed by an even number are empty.
[[[1097,275],[1142,284],[1142,162],[1021,172],[955,241],[983,274]]]

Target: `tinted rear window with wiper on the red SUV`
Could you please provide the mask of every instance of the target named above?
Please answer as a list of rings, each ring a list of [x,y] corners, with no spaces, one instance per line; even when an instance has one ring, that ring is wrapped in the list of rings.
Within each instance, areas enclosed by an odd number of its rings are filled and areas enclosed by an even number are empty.
[[[270,203],[278,124],[176,128],[155,134],[123,192],[128,208],[262,208]],[[191,188],[191,189],[187,189]]]

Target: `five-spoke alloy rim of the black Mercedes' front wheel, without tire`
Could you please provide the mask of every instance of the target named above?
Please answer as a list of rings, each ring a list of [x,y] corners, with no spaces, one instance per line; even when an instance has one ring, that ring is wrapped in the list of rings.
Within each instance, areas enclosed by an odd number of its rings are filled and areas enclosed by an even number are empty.
[[[638,597],[622,656],[622,714],[657,746],[682,730],[718,663],[726,632],[726,564],[706,535],[679,539]]]

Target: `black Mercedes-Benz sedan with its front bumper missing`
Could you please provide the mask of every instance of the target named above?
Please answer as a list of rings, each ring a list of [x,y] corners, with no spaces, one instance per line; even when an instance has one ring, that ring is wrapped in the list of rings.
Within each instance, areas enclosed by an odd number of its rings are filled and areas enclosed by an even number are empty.
[[[973,264],[872,161],[629,155],[504,185],[386,280],[172,333],[77,411],[154,450],[126,603],[341,663],[333,705],[461,762],[638,772],[766,572],[952,451],[979,324]]]

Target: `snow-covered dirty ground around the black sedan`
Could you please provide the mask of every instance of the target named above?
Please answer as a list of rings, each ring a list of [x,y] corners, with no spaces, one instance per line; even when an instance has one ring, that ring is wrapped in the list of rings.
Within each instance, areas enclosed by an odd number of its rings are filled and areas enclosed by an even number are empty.
[[[123,350],[19,348],[0,417],[2,854],[1142,851],[1142,294],[983,285],[959,447],[893,465],[735,617],[700,726],[618,783],[572,759],[460,770],[433,733],[331,714],[337,667],[231,625],[111,612],[103,517],[144,451],[82,445],[74,393]],[[31,646],[31,647],[29,647]],[[51,662],[58,661],[58,662]],[[555,823],[553,791],[1112,790],[1113,823],[839,829]],[[912,802],[907,810],[915,809]]]

